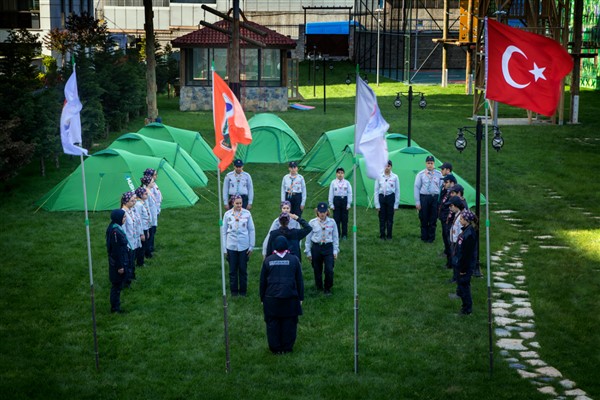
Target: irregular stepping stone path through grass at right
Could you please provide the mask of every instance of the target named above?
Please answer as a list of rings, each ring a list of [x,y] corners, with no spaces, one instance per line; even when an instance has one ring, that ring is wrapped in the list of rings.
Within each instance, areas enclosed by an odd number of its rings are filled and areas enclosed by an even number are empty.
[[[561,198],[550,189],[546,192],[549,198]],[[516,227],[519,232],[531,232],[523,228],[522,220],[517,217],[516,211],[499,210],[494,213]],[[534,238],[543,249],[569,248],[552,244],[552,235],[539,235]],[[565,379],[558,369],[548,365],[538,354],[537,349],[541,346],[536,340],[535,313],[529,301],[522,261],[523,254],[528,250],[527,245],[507,243],[502,250],[491,255],[494,287],[492,316],[496,327],[496,346],[501,349],[500,354],[509,367],[515,369],[523,379],[530,380],[540,393],[557,400],[591,400],[585,391],[577,388],[575,382]]]

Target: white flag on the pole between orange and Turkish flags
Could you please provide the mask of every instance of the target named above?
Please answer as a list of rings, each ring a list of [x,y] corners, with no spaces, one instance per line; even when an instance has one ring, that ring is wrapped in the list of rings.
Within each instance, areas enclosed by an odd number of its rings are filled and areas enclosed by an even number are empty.
[[[381,116],[375,93],[357,76],[354,149],[356,154],[364,156],[369,178],[377,179],[387,165],[385,133],[389,127],[390,124]]]

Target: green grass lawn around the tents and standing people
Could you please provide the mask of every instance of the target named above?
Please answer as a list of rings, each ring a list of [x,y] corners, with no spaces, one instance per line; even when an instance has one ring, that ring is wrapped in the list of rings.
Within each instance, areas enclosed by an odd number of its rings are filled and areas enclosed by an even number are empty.
[[[343,83],[346,69],[352,70],[340,65],[328,75],[327,114],[322,112],[322,99],[312,98],[312,86],[303,86],[301,93],[315,110],[279,114],[307,150],[324,130],[354,122],[354,85]],[[453,162],[461,176],[474,182],[474,140],[468,138],[463,153],[453,146],[456,128],[474,125],[467,119],[472,98],[463,94],[462,86],[414,89],[425,92],[429,104],[426,110],[413,111],[414,140]],[[383,79],[375,88],[390,130],[406,133],[406,107],[396,110],[392,105],[400,90],[406,91],[406,85]],[[490,153],[489,159],[492,210],[516,210],[531,229],[519,232],[492,214],[491,250],[508,242],[529,245],[523,262],[539,353],[592,398],[600,398],[598,220],[572,206],[600,216],[595,181],[600,167],[598,107],[598,93],[583,92],[579,125],[502,127],[505,147]],[[181,113],[177,108],[177,100],[160,99],[166,124],[200,130],[213,141],[211,113]],[[506,107],[501,113],[525,116]],[[129,130],[137,131],[141,124],[133,121]],[[107,144],[99,143],[94,150]],[[416,212],[409,208],[396,214],[391,243],[376,239],[376,212],[358,210],[358,375],[351,241],[342,242],[330,298],[313,290],[312,270],[305,263],[304,316],[294,353],[283,357],[267,349],[257,293],[261,260],[258,253],[252,257],[251,295],[229,301],[231,373],[226,374],[214,175],[209,176],[209,187],[198,191],[201,200],[196,206],[163,211],[156,257],[122,295],[123,307],[130,311],[126,315],[109,312],[103,245],[108,212],[90,214],[100,352],[96,371],[83,213],[36,212],[33,205],[77,164],[78,159],[63,157],[61,168],[49,168],[46,178],[32,165],[2,187],[2,398],[547,398],[509,368],[497,348],[490,378],[485,280],[473,284],[474,315],[456,317],[458,303],[447,297],[453,287],[444,283],[449,274],[437,256],[441,244],[421,243]],[[260,242],[277,215],[279,184],[287,168],[249,164],[246,170],[256,186],[252,214]],[[316,185],[316,174],[305,177],[312,207],[326,192]],[[550,198],[548,189],[562,198]],[[552,244],[569,248],[539,248],[534,236],[546,234],[554,236]]]

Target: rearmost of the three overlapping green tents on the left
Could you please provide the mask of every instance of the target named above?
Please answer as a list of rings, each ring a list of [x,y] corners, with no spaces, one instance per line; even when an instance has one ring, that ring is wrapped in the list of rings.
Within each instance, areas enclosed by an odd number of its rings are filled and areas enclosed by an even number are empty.
[[[140,129],[138,133],[152,139],[178,143],[203,171],[217,170],[219,161],[199,132],[153,122]]]

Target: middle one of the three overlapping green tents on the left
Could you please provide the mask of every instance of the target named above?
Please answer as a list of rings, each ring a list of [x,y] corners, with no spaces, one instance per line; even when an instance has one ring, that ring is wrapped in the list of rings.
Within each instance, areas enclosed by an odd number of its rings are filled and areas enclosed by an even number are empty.
[[[193,188],[205,187],[208,183],[202,168],[177,143],[151,139],[138,133],[127,133],[112,142],[109,148],[127,150],[142,156],[164,158]]]

